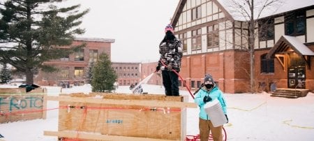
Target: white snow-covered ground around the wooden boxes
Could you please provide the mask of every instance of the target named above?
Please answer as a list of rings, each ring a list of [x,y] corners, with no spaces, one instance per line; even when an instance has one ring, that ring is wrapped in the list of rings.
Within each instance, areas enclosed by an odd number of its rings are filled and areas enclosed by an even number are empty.
[[[2,86],[3,87],[3,86]],[[8,86],[4,86],[8,87]],[[143,84],[144,91],[149,94],[163,94],[163,87]],[[47,87],[48,95],[62,93],[89,93],[88,86],[60,89]],[[129,94],[128,87],[120,86],[117,93]],[[180,91],[193,102],[188,91]],[[265,140],[265,141],[294,141],[314,140],[314,94],[306,97],[290,99],[271,97],[270,94],[225,94],[229,124],[225,124],[228,140]],[[43,135],[43,131],[58,130],[57,101],[47,102],[47,119],[17,121],[0,124],[0,134],[6,141],[56,141],[56,137]],[[187,135],[198,133],[198,109],[188,109],[186,123]]]

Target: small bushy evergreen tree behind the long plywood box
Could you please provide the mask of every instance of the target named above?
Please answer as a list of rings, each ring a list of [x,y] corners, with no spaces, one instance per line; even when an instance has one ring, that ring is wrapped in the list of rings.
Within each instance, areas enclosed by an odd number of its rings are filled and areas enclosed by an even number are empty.
[[[92,71],[91,80],[92,91],[111,92],[114,90],[114,82],[117,80],[117,74],[111,67],[111,61],[107,54],[100,54]]]

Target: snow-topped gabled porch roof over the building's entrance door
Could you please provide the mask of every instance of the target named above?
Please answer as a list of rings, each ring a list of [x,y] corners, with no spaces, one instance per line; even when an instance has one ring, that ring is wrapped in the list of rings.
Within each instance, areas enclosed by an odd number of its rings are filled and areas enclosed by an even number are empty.
[[[281,36],[274,47],[269,50],[267,57],[270,58],[276,53],[286,52],[290,47],[300,56],[314,56],[314,52],[301,43],[296,37]]]

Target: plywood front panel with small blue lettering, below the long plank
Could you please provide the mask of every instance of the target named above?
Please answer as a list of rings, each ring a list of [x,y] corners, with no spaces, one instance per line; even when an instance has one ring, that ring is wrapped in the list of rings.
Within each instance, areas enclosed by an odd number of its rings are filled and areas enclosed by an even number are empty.
[[[104,135],[162,138],[181,137],[181,109],[108,105],[95,103],[59,103],[59,131],[85,131]],[[75,107],[75,108],[67,108]],[[84,108],[80,108],[84,106]],[[185,124],[185,123],[184,123]],[[184,128],[185,130],[185,128]]]

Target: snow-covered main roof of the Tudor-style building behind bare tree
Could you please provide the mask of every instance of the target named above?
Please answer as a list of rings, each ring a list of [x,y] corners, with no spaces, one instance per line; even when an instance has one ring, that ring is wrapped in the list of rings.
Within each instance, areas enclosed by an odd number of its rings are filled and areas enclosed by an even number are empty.
[[[251,10],[249,9],[247,0],[217,0],[223,8],[229,13],[234,20],[239,21],[248,21],[248,17],[245,14],[245,11],[250,14]],[[270,3],[271,1],[276,1]],[[269,3],[269,6],[263,9],[265,3]],[[262,17],[268,17],[270,15],[277,15],[285,13],[291,10],[297,10],[299,8],[305,8],[308,6],[314,6],[314,0],[258,0],[254,1],[254,18],[260,19]],[[262,12],[260,12],[262,11]],[[258,15],[260,13],[260,15]]]

